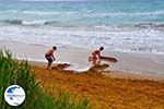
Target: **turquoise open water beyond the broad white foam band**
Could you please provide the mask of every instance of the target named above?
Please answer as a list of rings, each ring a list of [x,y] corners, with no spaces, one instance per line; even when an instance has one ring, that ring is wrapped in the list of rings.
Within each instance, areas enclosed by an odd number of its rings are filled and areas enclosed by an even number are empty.
[[[0,2],[0,22],[99,26],[164,22],[164,0]]]

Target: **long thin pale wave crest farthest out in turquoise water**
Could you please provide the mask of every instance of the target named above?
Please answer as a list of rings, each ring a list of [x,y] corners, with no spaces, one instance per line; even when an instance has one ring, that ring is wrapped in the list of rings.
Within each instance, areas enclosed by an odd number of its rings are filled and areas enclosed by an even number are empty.
[[[125,11],[118,11],[118,12],[96,12],[94,10],[82,10],[82,11],[44,11],[44,10],[32,10],[32,11],[26,11],[26,10],[2,10],[0,11],[1,14],[3,13],[20,13],[20,14],[33,14],[33,15],[62,15],[62,14],[80,14],[80,15],[89,15],[89,17],[92,16],[141,16],[141,15],[163,15],[164,11],[159,10],[159,11],[143,11],[143,12],[125,12]]]

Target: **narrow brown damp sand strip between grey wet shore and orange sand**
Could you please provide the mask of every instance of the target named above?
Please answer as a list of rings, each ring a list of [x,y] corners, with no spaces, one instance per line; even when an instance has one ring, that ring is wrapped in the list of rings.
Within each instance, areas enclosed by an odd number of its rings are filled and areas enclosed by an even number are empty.
[[[32,66],[38,66],[38,68],[46,68],[46,62],[38,62],[38,61],[28,61],[28,63]],[[75,71],[75,70],[69,70],[70,63],[54,63],[52,70],[59,70],[59,71],[66,71],[66,72],[74,72],[74,73],[87,73],[87,72],[95,72],[96,74],[103,74],[105,76],[110,76],[113,78],[125,78],[125,80],[149,80],[149,81],[159,81],[164,82],[164,75],[157,75],[157,74],[150,74],[150,73],[134,73],[134,72],[126,72],[126,71],[117,71],[117,70],[108,70],[107,66],[102,66],[103,69],[95,69],[92,70],[92,66],[90,66],[85,71]]]

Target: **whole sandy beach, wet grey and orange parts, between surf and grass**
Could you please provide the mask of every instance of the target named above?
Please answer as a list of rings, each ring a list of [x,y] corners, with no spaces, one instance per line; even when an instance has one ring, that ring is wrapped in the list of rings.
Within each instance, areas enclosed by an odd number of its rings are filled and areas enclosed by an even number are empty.
[[[105,50],[104,56],[118,62],[91,69],[90,49],[58,47],[54,69],[46,70],[44,53],[49,47],[4,40],[0,47],[27,59],[40,86],[52,96],[68,90],[72,98],[89,98],[92,109],[164,108],[163,56]]]

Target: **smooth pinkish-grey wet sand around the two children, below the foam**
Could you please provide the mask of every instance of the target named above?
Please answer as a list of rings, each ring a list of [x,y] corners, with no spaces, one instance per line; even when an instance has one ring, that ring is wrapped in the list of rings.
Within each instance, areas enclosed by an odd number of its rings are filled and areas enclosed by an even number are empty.
[[[12,51],[14,58],[27,59],[30,61],[46,62],[44,53],[50,47],[33,44],[23,44],[16,41],[0,40],[0,48],[8,48]],[[91,49],[83,49],[78,47],[58,47],[55,52],[56,62],[70,63],[69,70],[84,71],[91,66],[87,57],[92,52]],[[133,53],[133,52],[118,52],[105,49],[102,56],[116,57],[117,63],[108,63],[113,71],[142,73],[164,75],[164,56],[152,53]],[[106,62],[103,62],[106,63]]]

